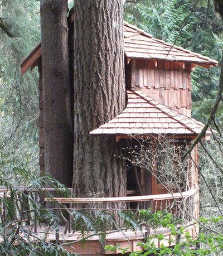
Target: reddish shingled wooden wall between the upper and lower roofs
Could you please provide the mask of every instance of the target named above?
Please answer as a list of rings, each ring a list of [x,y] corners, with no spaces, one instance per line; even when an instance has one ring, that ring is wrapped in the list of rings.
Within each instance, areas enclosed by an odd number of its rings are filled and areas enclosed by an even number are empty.
[[[137,88],[159,102],[191,116],[191,64],[131,60],[127,87]]]

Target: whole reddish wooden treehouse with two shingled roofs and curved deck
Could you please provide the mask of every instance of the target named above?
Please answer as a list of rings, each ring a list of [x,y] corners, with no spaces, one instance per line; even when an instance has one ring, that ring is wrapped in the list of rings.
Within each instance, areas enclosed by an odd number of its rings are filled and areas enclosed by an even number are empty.
[[[69,20],[70,29],[73,18]],[[72,51],[72,45],[70,47]],[[190,145],[201,132],[203,124],[191,118],[191,72],[196,66],[209,69],[217,65],[217,61],[209,57],[196,54],[182,47],[173,46],[154,38],[139,28],[124,23],[124,52],[125,52],[125,85],[127,90],[126,108],[117,117],[109,120],[90,132],[90,136],[110,134],[119,140],[128,141],[130,145],[138,146],[142,139],[151,139],[156,144],[159,136],[171,138],[177,145]],[[39,118],[39,145],[40,168],[44,170],[44,123],[43,123],[43,95],[41,80],[41,44],[23,60],[21,64],[22,75],[30,68],[38,66],[40,72],[40,118]],[[208,131],[206,138],[209,138]],[[162,158],[162,157],[161,157]],[[173,215],[185,219],[185,223],[192,223],[197,219],[198,212],[198,163],[197,147],[191,154],[192,160],[188,164],[190,182],[179,191],[177,188],[170,193],[166,186],[159,182],[158,177],[143,170],[142,167],[130,167],[127,171],[127,195],[125,197],[109,198],[58,198],[62,204],[70,204],[70,210],[75,203],[100,204],[101,202],[127,204],[130,209],[140,209],[145,205],[153,211],[167,210]],[[136,170],[135,170],[136,168]],[[158,171],[158,161],[154,161],[153,172]],[[167,177],[168,182],[168,177]],[[188,202],[187,214],[180,211],[183,200]],[[145,204],[143,204],[143,202]],[[170,207],[172,205],[172,207]],[[72,206],[72,207],[71,207]],[[91,237],[84,246],[78,242],[78,234],[71,230],[69,220],[68,228],[62,227],[57,234],[50,234],[47,239],[51,241],[69,241],[66,249],[80,255],[114,254],[105,252],[104,245],[100,244],[97,236]],[[187,225],[192,236],[196,236],[198,227],[196,224]],[[129,247],[130,251],[141,249],[137,243],[144,240],[148,229],[133,233],[110,233],[106,236],[105,244],[117,245],[121,248]],[[36,227],[36,232],[41,233],[41,227]],[[152,234],[154,231],[150,230]],[[158,230],[167,239],[171,239],[169,230]],[[72,244],[74,241],[74,244]],[[154,241],[159,246],[159,241]],[[120,253],[117,249],[116,253]]]

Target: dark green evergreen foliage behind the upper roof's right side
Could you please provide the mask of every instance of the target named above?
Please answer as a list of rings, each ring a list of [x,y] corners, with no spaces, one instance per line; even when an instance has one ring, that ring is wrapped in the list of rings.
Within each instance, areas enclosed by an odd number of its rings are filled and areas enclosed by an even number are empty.
[[[140,0],[127,2],[125,20],[154,37],[220,61],[223,25],[211,1]],[[196,67],[192,73],[193,117],[206,121],[216,96],[219,69]],[[218,113],[222,118],[222,104]]]

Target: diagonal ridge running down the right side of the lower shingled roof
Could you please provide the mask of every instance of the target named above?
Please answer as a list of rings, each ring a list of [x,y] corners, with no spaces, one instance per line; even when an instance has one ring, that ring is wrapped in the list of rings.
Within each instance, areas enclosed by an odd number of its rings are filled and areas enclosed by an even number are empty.
[[[159,110],[161,110],[163,113],[165,113],[166,115],[168,115],[168,117],[171,117],[171,118],[173,118],[174,120],[176,120],[178,123],[181,123],[184,127],[186,127],[187,129],[190,129],[193,133],[195,133],[195,131],[193,131],[193,129],[192,129],[191,127],[188,127],[188,125],[185,124],[185,123],[183,123],[183,122],[181,122],[181,120],[177,120],[177,119],[174,118],[171,114],[169,114],[169,113],[167,113],[166,111],[164,111],[162,108],[157,107],[156,104],[151,103],[150,100],[148,100],[147,98],[150,98],[150,99],[153,100],[154,102],[157,102],[157,104],[163,105],[165,108],[168,108],[168,109],[170,109],[170,110],[173,111],[173,112],[176,112],[178,115],[182,115],[183,117],[186,117],[187,119],[191,119],[191,120],[195,121],[197,125],[201,126],[201,124],[198,124],[198,123],[197,123],[197,120],[196,120],[196,119],[191,118],[191,117],[187,117],[187,115],[184,115],[184,114],[178,112],[177,110],[171,109],[171,108],[168,107],[167,105],[158,102],[157,100],[151,98],[150,96],[148,96],[148,95],[142,93],[142,91],[140,91],[140,90],[138,90],[138,89],[130,88],[130,89],[128,89],[128,90],[130,90],[130,91],[132,91],[133,93],[137,94],[138,96],[140,96],[141,98],[143,98],[144,100],[146,100],[147,102],[149,102],[149,104],[151,104],[151,105],[153,105],[154,107],[156,107],[156,108],[158,108]],[[138,93],[137,91],[140,91],[140,93]]]

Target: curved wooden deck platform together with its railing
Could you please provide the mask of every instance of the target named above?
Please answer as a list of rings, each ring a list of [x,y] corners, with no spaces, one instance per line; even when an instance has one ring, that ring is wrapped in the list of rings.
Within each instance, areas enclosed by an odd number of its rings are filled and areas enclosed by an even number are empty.
[[[23,187],[18,187],[18,192],[24,191]],[[40,200],[40,196],[38,193],[41,191],[54,191],[52,188],[43,188],[40,191],[38,190],[30,190],[26,189],[27,193],[32,194],[32,198],[37,201],[37,204],[42,204]],[[9,196],[9,191],[6,188],[1,187],[0,193],[2,193],[2,197]],[[72,194],[71,194],[72,196]],[[31,239],[51,241],[52,243],[59,243],[64,248],[69,250],[70,252],[74,252],[79,255],[105,255],[105,254],[119,254],[121,253],[120,249],[128,248],[128,252],[137,252],[138,250],[142,250],[139,245],[139,242],[146,241],[146,237],[148,234],[163,234],[165,239],[162,241],[158,241],[157,238],[153,238],[153,243],[159,247],[162,243],[167,246],[174,245],[174,241],[176,237],[171,235],[171,231],[169,229],[159,228],[156,230],[149,229],[148,227],[142,228],[142,230],[132,231],[132,230],[114,230],[109,231],[105,239],[103,241],[100,240],[98,235],[94,235],[93,233],[85,233],[88,234],[88,237],[85,235],[85,239],[81,237],[80,233],[75,229],[75,216],[72,215],[72,211],[77,211],[77,204],[86,204],[90,203],[95,206],[94,209],[98,209],[96,205],[101,203],[117,203],[122,202],[127,206],[127,210],[131,210],[128,208],[130,202],[137,202],[137,205],[140,206],[142,202],[149,202],[151,210],[153,212],[157,212],[159,210],[165,210],[171,212],[173,216],[176,218],[181,218],[185,224],[185,231],[188,231],[193,238],[195,238],[198,234],[198,226],[193,223],[193,218],[197,219],[198,216],[198,190],[191,189],[181,193],[174,194],[161,194],[161,195],[147,195],[147,196],[127,196],[127,197],[90,197],[90,198],[76,198],[76,197],[45,197],[45,201],[55,201],[59,202],[59,208],[55,208],[54,210],[63,210],[66,211],[65,216],[63,217],[64,225],[59,226],[56,230],[51,229],[49,231],[49,225],[41,224],[38,225],[36,221],[36,214],[30,209],[30,215],[28,217],[29,225],[27,226],[27,231],[31,233]],[[70,207],[67,208],[65,204],[69,204]],[[20,205],[20,209],[18,214],[22,212],[23,207]],[[83,208],[81,208],[83,210]],[[110,209],[103,209],[110,210]],[[135,209],[135,211],[138,211]],[[7,209],[2,208],[2,218],[4,220],[5,213]],[[18,216],[19,218],[20,216]],[[55,226],[57,221],[55,221]],[[27,219],[24,219],[24,228],[26,229]],[[74,230],[73,230],[74,229]],[[48,230],[48,231],[47,231]],[[22,233],[26,230],[23,230]],[[21,235],[22,235],[21,233]],[[24,233],[24,235],[26,235]],[[1,239],[1,238],[0,238]],[[116,252],[108,252],[104,250],[105,245],[114,245],[117,246]]]

